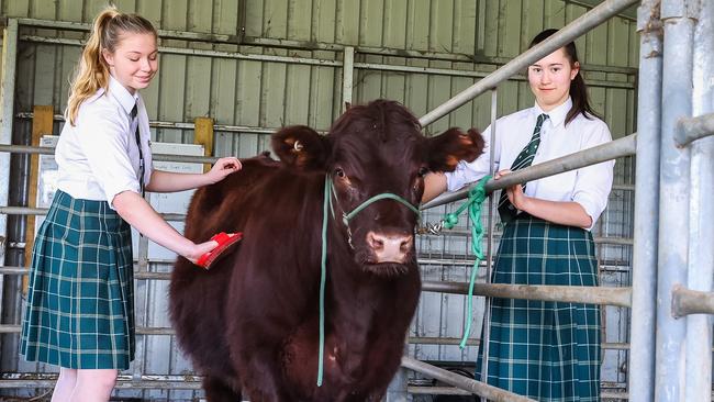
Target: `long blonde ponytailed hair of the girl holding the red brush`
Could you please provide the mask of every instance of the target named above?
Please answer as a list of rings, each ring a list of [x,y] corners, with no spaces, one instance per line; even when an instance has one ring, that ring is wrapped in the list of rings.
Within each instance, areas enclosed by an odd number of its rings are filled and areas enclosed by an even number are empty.
[[[75,125],[79,105],[97,93],[99,88],[109,87],[109,65],[102,56],[102,49],[114,53],[124,33],[147,34],[157,37],[156,29],[138,14],[125,14],[114,7],[104,9],[94,19],[89,40],[85,45],[77,66],[75,78],[69,87],[69,99],[65,119]]]

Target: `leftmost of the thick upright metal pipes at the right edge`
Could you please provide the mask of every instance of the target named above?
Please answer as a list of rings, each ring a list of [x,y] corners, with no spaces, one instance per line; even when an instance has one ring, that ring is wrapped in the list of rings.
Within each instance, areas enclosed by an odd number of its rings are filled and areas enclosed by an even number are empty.
[[[662,81],[660,0],[645,0],[637,9],[639,89],[637,93],[637,164],[633,245],[632,350],[627,383],[633,401],[655,399],[655,332],[657,294],[657,234],[659,211],[659,148]]]

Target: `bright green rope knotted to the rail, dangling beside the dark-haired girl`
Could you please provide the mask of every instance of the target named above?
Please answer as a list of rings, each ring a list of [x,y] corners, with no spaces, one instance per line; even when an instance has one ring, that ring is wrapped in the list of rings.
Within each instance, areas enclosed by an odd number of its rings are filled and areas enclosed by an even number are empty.
[[[459,214],[464,212],[465,209],[469,209],[469,217],[471,219],[471,250],[476,256],[476,261],[473,261],[473,268],[471,268],[471,280],[469,281],[469,294],[467,295],[467,313],[466,313],[466,328],[464,328],[464,335],[461,336],[461,343],[459,347],[464,349],[466,347],[466,340],[471,333],[471,299],[473,298],[473,283],[476,283],[476,275],[479,270],[479,261],[482,261],[486,257],[483,256],[483,250],[481,249],[481,239],[483,238],[483,225],[481,224],[481,206],[486,200],[486,182],[491,179],[491,176],[487,176],[479,180],[479,182],[469,191],[469,199],[461,206],[459,206],[456,212],[447,213],[444,216],[444,227],[453,228],[459,222]]]

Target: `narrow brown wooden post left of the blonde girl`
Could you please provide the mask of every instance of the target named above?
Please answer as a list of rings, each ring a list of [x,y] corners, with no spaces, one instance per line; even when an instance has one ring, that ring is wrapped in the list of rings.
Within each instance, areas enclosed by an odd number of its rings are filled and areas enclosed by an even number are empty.
[[[55,110],[52,105],[35,105],[32,116],[32,146],[40,146],[40,137],[52,134]],[[30,183],[27,186],[27,206],[37,206],[37,179],[40,175],[40,155],[30,156]],[[32,246],[35,243],[35,215],[27,215],[25,230],[25,266],[30,266],[32,259]],[[22,291],[27,292],[27,276],[22,278]]]

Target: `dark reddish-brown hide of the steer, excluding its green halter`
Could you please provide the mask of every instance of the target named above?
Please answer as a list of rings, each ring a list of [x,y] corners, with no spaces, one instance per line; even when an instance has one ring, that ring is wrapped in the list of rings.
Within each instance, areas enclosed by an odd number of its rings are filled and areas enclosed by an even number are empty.
[[[413,248],[417,216],[393,200],[339,217],[383,192],[419,204],[423,175],[473,160],[483,141],[451,129],[425,138],[402,105],[352,107],[321,136],[309,127],[274,134],[282,161],[244,160],[243,170],[197,191],[186,235],[244,233],[210,271],[179,258],[170,314],[181,348],[205,376],[209,401],[379,401],[399,368],[420,294]],[[328,216],[324,382],[316,387],[321,228]],[[352,245],[348,237],[352,235]],[[390,237],[391,236],[391,237]],[[375,238],[402,238],[400,260],[381,260]]]

